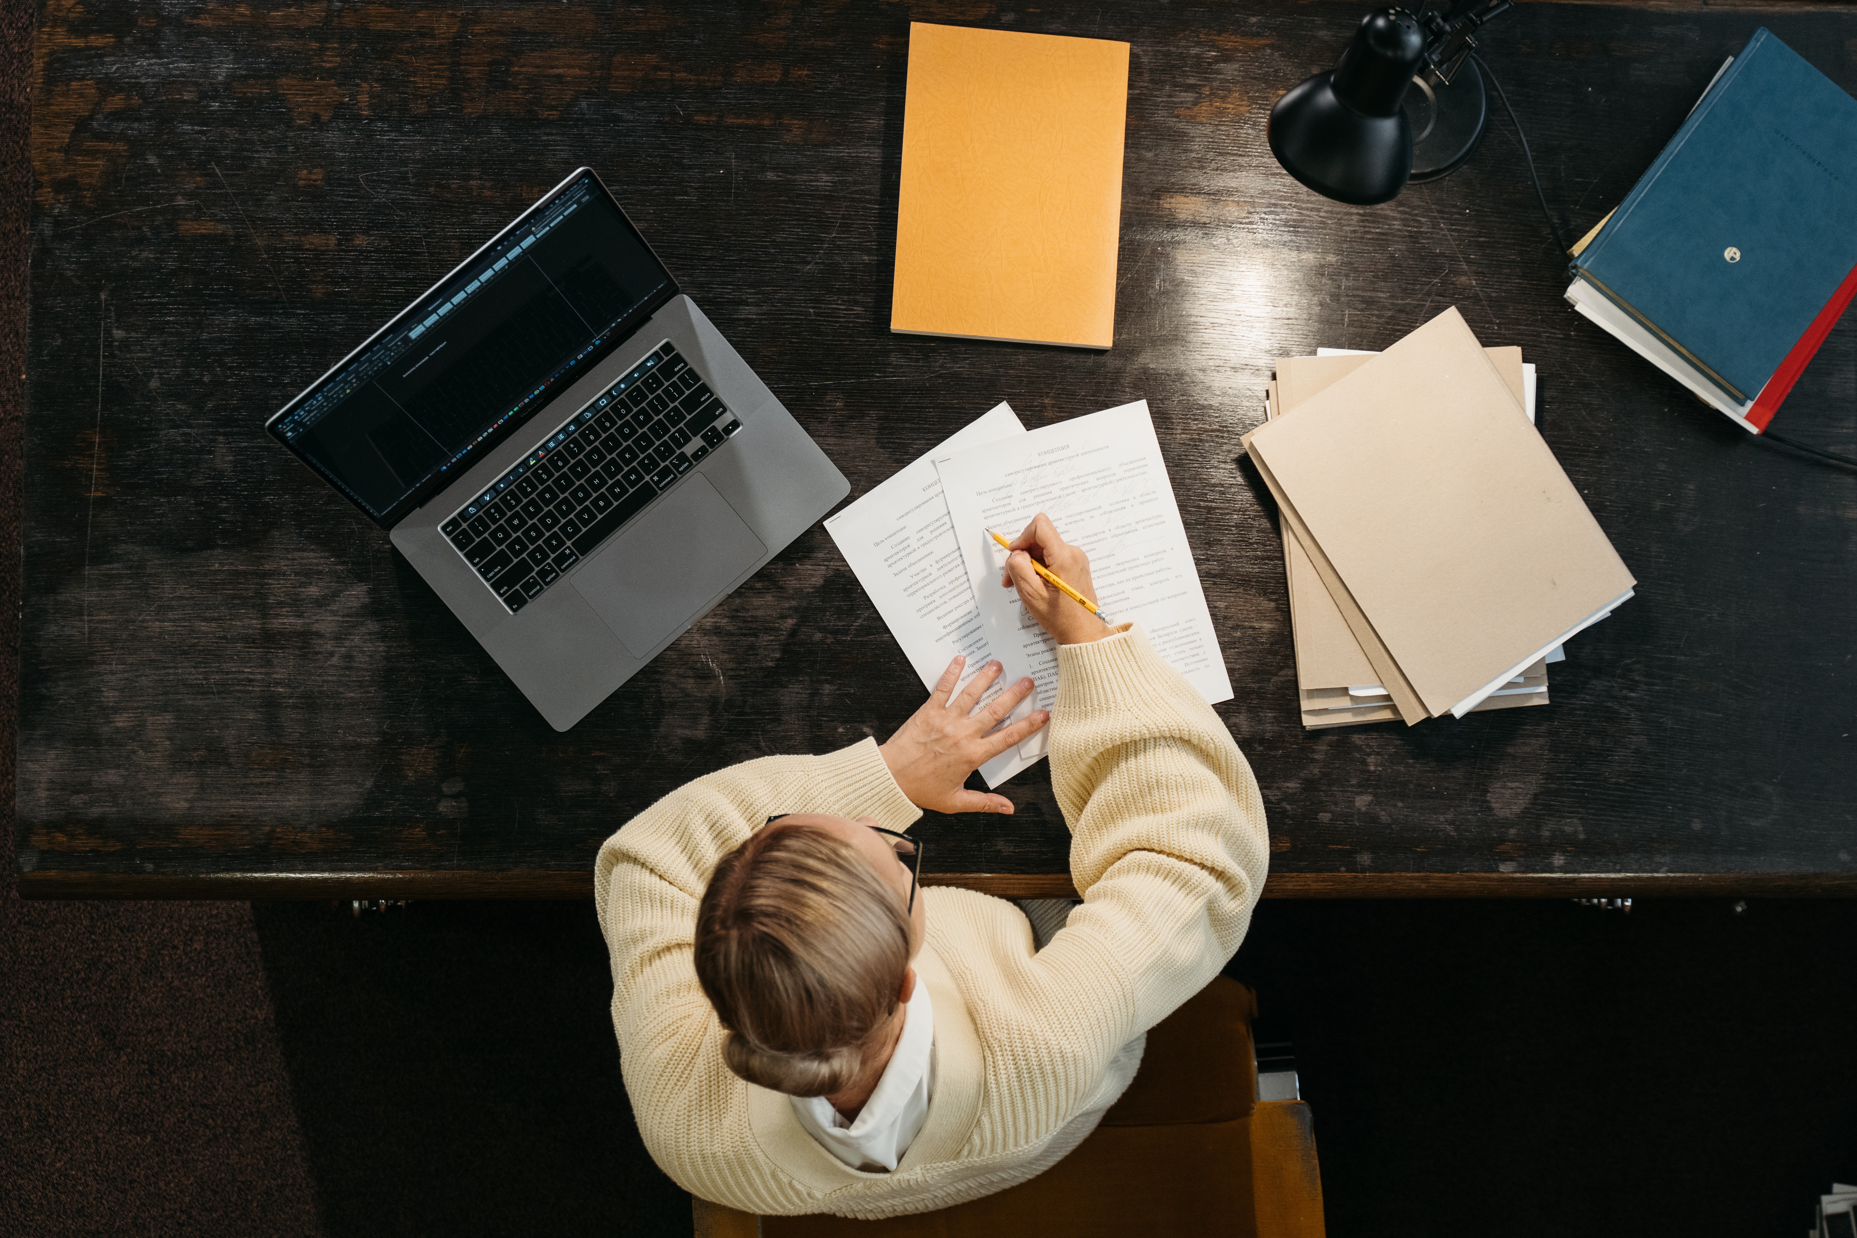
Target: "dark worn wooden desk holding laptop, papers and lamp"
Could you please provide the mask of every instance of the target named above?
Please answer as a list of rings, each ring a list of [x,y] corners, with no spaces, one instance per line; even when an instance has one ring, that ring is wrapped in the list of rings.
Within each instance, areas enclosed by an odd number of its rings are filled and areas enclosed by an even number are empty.
[[[264,418],[579,163],[862,494],[1010,399],[1148,397],[1270,806],[1272,895],[1857,891],[1857,479],[1747,442],[1564,301],[1508,119],[1354,210],[1276,95],[1367,6],[45,6],[33,95],[19,867],[41,896],[583,896],[682,781],[888,735],[921,690],[813,529],[566,735]],[[1133,43],[1116,347],[891,336],[908,20]],[[1846,89],[1857,13],[1525,4],[1487,30],[1569,234],[1760,24]],[[1638,575],[1547,709],[1307,735],[1272,358],[1447,304]],[[1779,425],[1857,449],[1857,321]],[[943,878],[1068,889],[1044,767],[927,820]],[[986,874],[986,876],[973,876]]]

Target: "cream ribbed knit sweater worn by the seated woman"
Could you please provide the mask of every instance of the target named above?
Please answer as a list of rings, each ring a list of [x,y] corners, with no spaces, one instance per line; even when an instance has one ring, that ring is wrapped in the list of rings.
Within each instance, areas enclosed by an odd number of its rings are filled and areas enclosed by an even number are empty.
[[[696,904],[774,813],[921,813],[864,741],[698,778],[605,841],[594,872],[613,1026],[644,1145],[689,1192],[758,1214],[884,1218],[1034,1177],[1133,1077],[1123,1052],[1231,958],[1265,882],[1265,809],[1231,735],[1127,625],[1058,650],[1051,781],[1083,906],[1044,950],[1010,902],[930,887],[916,958],[936,1010],[936,1091],[893,1173],[815,1143],[787,1097],[722,1065],[696,984]],[[1136,1049],[1138,1052],[1138,1049]]]

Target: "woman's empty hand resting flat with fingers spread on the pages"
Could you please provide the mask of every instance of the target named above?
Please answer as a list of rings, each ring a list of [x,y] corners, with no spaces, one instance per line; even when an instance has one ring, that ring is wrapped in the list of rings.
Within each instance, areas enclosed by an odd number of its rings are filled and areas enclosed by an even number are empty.
[[[988,685],[999,677],[1001,666],[988,663],[960,696],[949,700],[966,663],[967,659],[956,657],[947,664],[928,703],[897,728],[878,752],[884,754],[890,776],[916,807],[932,807],[938,813],[1010,813],[1012,800],[1006,796],[967,791],[962,783],[967,781],[967,774],[1034,735],[1051,715],[1034,709],[1012,726],[988,735],[1025,700],[1032,681],[1019,679],[988,702],[986,709],[973,713]]]

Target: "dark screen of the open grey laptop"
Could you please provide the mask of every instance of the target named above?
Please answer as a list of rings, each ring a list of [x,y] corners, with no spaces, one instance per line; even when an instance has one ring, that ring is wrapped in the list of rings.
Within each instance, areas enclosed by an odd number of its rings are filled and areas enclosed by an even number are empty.
[[[392,525],[676,293],[581,169],[267,423]]]

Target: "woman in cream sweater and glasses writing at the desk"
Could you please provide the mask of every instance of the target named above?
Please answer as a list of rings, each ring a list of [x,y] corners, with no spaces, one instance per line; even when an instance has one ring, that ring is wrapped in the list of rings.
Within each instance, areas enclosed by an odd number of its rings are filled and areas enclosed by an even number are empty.
[[[1012,548],[1001,585],[1058,642],[1051,783],[1083,902],[1055,932],[919,889],[903,837],[923,807],[1012,811],[962,789],[1047,720],[988,735],[1031,679],[969,716],[997,664],[951,700],[956,659],[882,746],[698,778],[600,848],[626,1091],[704,1199],[884,1218],[1023,1182],[1096,1128],[1148,1028],[1244,937],[1268,856],[1250,765],[1138,629],[1034,574],[1031,555],[1094,596],[1045,516]]]

